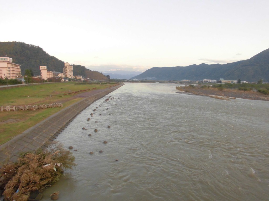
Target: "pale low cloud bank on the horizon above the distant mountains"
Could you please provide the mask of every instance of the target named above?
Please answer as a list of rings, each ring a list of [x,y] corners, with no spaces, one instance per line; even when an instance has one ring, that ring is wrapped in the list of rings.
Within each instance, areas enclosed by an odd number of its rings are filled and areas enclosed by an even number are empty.
[[[144,72],[151,68],[149,66],[132,66],[132,65],[120,65],[120,64],[98,64],[98,65],[85,65],[87,69],[103,71],[115,71],[115,70],[127,70],[127,71],[139,71]]]

